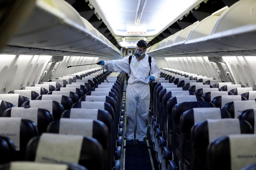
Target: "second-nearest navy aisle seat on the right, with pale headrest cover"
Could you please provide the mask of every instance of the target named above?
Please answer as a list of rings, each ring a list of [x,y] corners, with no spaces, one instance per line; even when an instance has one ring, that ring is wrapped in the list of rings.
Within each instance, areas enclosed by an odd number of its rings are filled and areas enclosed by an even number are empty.
[[[247,121],[230,117],[223,119],[221,116],[221,119],[219,117],[219,119],[207,119],[196,123],[191,129],[191,169],[207,169],[207,147],[214,139],[221,136],[250,133],[252,133],[252,126]],[[187,161],[190,161],[190,158]]]

